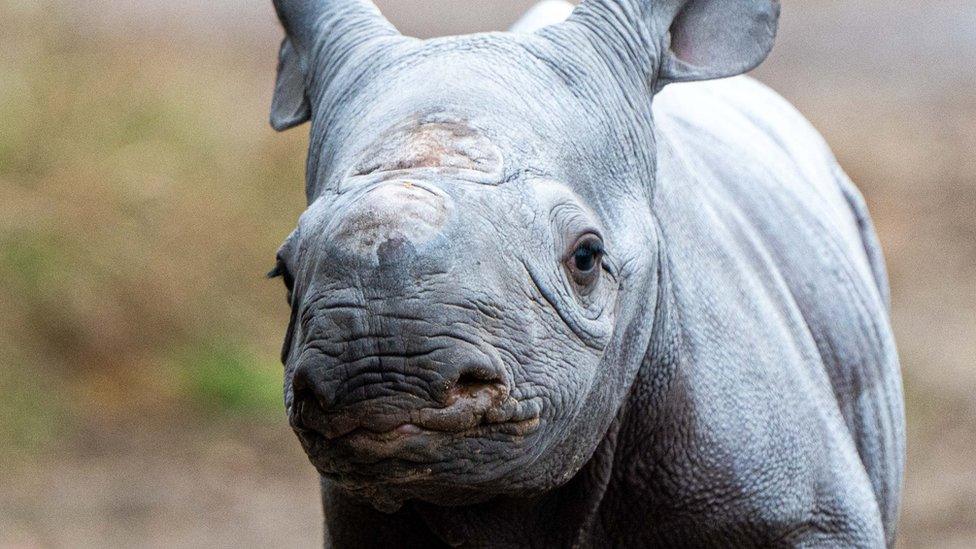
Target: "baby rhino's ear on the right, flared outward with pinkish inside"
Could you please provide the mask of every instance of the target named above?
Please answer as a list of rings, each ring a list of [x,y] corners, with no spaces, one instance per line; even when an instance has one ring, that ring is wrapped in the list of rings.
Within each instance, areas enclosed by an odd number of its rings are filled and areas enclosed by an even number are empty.
[[[776,39],[777,0],[688,0],[670,21],[658,88],[735,76],[766,59]]]

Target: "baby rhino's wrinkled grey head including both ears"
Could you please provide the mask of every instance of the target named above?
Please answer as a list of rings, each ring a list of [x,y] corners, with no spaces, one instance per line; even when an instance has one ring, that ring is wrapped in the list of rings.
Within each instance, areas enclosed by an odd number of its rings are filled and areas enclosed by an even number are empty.
[[[536,32],[417,40],[364,0],[275,0],[272,124],[311,121],[273,274],[291,424],[381,509],[566,482],[649,351],[651,99],[762,61],[778,4],[588,0]]]

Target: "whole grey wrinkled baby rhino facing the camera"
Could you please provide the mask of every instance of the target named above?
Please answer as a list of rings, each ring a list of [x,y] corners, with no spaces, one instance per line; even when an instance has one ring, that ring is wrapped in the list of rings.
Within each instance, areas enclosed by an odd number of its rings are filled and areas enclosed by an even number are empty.
[[[275,6],[272,124],[311,121],[285,402],[327,546],[893,543],[863,200],[776,94],[697,82],[765,58],[776,2],[426,41],[363,0]]]

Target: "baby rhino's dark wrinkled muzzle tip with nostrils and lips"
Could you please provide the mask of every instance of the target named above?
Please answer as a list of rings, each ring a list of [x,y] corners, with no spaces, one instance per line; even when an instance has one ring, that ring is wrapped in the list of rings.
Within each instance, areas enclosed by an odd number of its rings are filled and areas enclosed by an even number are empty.
[[[466,350],[427,358],[362,357],[346,364],[309,361],[296,368],[292,394],[296,430],[329,441],[357,434],[462,433],[523,419],[515,417],[517,405],[502,368]]]

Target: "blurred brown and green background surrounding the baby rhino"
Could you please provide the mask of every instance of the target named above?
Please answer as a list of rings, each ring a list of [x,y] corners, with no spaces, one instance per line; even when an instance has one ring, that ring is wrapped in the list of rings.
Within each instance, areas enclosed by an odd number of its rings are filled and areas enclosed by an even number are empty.
[[[417,36],[529,0],[386,0]],[[976,547],[976,3],[784,0],[756,76],[826,136],[887,253],[902,547]],[[321,546],[287,427],[306,129],[267,124],[270,0],[0,0],[0,546]]]

